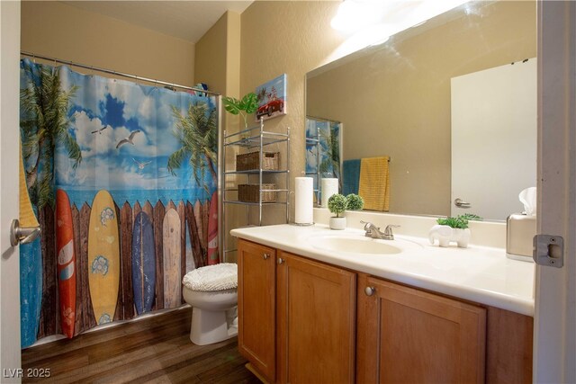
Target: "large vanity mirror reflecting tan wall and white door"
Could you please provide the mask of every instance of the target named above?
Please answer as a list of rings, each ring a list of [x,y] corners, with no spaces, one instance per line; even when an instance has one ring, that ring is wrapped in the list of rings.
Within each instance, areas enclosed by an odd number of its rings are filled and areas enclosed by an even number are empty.
[[[536,1],[463,4],[314,69],[306,114],[341,123],[342,160],[390,157],[390,212],[506,219],[536,186]]]

